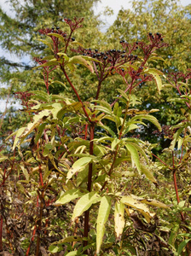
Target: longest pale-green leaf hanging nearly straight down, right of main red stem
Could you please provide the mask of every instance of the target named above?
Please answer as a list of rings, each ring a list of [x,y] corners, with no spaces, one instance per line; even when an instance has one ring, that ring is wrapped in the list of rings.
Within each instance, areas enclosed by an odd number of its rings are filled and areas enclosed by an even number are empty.
[[[97,226],[96,226],[96,253],[100,253],[102,239],[105,233],[105,224],[109,217],[109,212],[112,206],[111,198],[107,195],[101,198],[101,204],[98,211]]]

